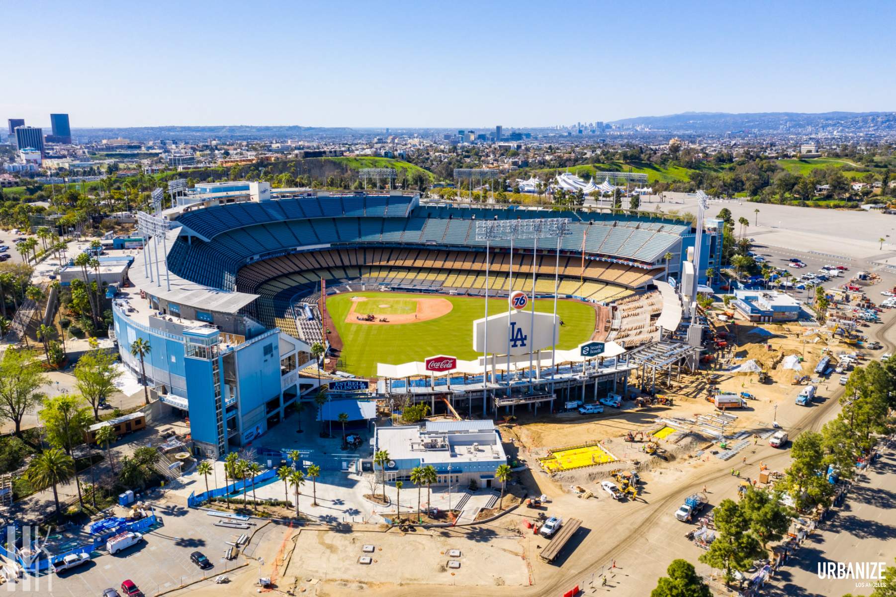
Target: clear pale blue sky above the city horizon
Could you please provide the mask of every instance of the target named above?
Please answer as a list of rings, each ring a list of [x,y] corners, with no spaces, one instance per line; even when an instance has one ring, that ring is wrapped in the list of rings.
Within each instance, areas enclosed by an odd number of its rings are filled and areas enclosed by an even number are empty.
[[[0,14],[4,123],[511,127],[896,99],[892,2],[0,0]]]

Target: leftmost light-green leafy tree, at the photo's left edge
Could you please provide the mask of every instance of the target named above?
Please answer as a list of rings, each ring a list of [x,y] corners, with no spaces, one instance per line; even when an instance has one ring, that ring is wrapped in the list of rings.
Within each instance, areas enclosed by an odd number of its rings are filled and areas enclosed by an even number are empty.
[[[22,418],[44,399],[40,389],[48,383],[33,351],[6,349],[0,360],[0,419],[13,423],[16,437],[22,438]]]

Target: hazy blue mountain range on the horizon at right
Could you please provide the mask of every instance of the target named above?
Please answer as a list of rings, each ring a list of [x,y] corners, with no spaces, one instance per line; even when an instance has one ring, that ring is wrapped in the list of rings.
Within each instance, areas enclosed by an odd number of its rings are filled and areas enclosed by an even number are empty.
[[[840,130],[865,130],[874,133],[896,132],[896,112],[758,112],[728,114],[726,112],[684,112],[659,117],[624,118],[608,123],[626,128],[649,126],[670,133],[725,134],[806,133]]]

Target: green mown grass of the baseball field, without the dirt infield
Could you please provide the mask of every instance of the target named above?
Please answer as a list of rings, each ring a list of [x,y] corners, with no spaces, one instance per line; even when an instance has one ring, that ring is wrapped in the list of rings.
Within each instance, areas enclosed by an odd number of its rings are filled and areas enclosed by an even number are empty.
[[[394,325],[345,323],[352,297],[367,297],[358,307],[365,303],[375,306],[379,304],[379,299],[394,300],[395,295],[391,292],[346,292],[327,299],[327,309],[342,339],[340,368],[359,376],[375,376],[376,363],[398,365],[437,354],[462,360],[475,359],[478,353],[473,350],[472,323],[485,316],[485,299],[438,296],[451,301],[451,313],[429,321]],[[385,301],[382,302],[384,304]],[[489,315],[503,312],[506,308],[506,299],[488,301]],[[535,310],[552,313],[554,301],[537,300]],[[557,348],[571,349],[590,339],[597,319],[594,307],[577,301],[560,300],[557,302],[557,314],[564,322]]]

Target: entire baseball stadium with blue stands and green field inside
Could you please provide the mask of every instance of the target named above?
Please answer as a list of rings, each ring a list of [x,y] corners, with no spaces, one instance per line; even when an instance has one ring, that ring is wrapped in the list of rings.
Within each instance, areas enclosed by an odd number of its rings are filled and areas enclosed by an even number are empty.
[[[654,285],[683,272],[698,236],[690,219],[649,212],[266,183],[176,191],[171,208],[139,214],[147,243],[128,273],[135,288],[113,301],[115,334],[138,373],[128,347],[151,343],[143,368],[153,393],[189,417],[214,457],[263,435],[318,385],[455,415],[625,387],[632,367],[618,357],[659,340]],[[562,231],[524,233],[547,221]],[[721,230],[704,221],[698,279],[717,265]],[[528,303],[513,316],[512,294]],[[553,337],[510,350],[508,325],[530,326],[534,342],[542,321]],[[495,335],[508,350],[494,348]],[[331,357],[324,370],[316,342]],[[593,342],[599,359],[585,348]]]

